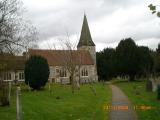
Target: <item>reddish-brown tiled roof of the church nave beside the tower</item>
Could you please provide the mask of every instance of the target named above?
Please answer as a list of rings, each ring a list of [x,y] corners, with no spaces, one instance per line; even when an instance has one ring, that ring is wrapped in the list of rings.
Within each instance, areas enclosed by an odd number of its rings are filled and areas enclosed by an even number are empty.
[[[70,50],[29,49],[28,54],[40,55],[45,57],[50,66],[63,66],[67,61],[71,61],[77,65],[94,64],[90,53],[84,50],[70,51]]]

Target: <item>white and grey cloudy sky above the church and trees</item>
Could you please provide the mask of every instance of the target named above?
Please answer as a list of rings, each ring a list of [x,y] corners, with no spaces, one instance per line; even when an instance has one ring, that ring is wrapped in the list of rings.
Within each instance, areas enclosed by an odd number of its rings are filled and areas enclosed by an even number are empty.
[[[60,46],[60,39],[80,37],[83,15],[87,19],[97,51],[116,47],[132,37],[138,45],[152,49],[160,42],[160,18],[147,7],[160,0],[23,0],[27,16],[37,27],[40,48]]]

